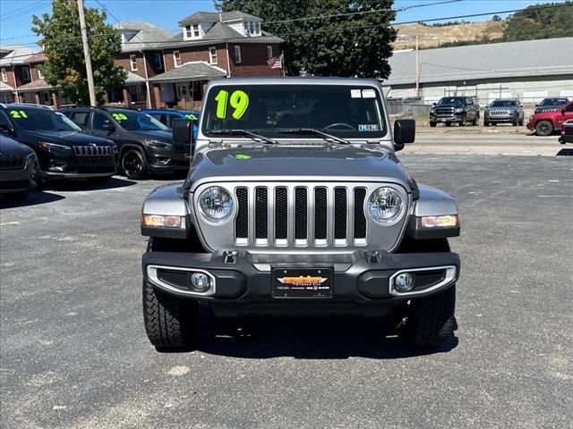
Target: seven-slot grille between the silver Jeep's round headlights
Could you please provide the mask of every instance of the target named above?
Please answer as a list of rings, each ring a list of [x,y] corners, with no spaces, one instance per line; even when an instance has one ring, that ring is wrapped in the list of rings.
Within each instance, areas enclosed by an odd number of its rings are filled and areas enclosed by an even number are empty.
[[[235,198],[236,244],[366,244],[366,189],[361,186],[237,187]]]

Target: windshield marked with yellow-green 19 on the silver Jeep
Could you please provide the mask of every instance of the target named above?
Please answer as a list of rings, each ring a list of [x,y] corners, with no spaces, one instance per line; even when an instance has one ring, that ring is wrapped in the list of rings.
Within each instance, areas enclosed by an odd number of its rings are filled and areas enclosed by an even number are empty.
[[[343,139],[376,139],[386,134],[380,94],[363,85],[217,86],[210,89],[201,118],[207,135],[249,130],[286,139],[285,130],[299,130],[297,135],[316,139],[316,132],[304,130],[322,130]]]

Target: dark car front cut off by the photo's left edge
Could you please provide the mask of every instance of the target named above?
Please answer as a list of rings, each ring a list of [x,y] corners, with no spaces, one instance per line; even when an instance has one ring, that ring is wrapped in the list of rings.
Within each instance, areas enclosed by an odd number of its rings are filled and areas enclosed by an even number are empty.
[[[0,196],[28,197],[38,181],[38,157],[16,140],[0,135]]]

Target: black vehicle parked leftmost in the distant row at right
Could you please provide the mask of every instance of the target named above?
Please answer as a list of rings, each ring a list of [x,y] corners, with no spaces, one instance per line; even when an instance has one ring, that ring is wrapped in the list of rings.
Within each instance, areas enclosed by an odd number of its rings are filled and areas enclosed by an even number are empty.
[[[477,125],[480,121],[480,106],[474,103],[472,97],[443,97],[434,103],[430,109],[430,126],[438,122],[449,127],[456,122],[463,127],[467,122]]]

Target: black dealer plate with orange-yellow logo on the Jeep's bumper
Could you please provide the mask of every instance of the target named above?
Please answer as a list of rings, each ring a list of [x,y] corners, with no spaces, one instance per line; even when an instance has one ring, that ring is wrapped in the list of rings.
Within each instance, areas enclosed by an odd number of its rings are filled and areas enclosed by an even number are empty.
[[[272,298],[332,298],[332,269],[275,268]]]

